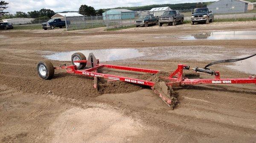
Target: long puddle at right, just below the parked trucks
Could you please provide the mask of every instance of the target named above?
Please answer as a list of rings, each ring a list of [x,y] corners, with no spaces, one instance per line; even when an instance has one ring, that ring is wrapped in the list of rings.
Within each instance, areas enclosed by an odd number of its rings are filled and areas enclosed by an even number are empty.
[[[220,31],[206,32],[192,36],[183,36],[182,40],[239,40],[239,39],[256,39],[256,31]]]

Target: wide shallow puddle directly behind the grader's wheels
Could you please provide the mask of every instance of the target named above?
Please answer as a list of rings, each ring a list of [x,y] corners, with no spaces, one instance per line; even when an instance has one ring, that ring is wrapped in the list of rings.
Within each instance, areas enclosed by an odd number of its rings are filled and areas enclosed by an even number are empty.
[[[93,53],[96,58],[100,58],[100,61],[114,61],[122,59],[137,58],[143,56],[142,52],[137,49],[101,49],[101,50],[80,50],[54,53],[52,55],[44,56],[47,59],[58,60],[58,61],[70,61],[73,53],[81,52],[86,58],[89,53]]]

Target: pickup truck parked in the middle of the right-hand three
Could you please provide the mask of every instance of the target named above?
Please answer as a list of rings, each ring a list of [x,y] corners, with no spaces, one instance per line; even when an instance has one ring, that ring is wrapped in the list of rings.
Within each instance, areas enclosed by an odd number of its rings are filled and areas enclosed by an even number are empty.
[[[176,25],[177,22],[183,24],[184,15],[180,14],[180,11],[172,10],[165,11],[162,16],[159,17],[158,25],[162,26],[164,23],[168,23],[170,25]]]

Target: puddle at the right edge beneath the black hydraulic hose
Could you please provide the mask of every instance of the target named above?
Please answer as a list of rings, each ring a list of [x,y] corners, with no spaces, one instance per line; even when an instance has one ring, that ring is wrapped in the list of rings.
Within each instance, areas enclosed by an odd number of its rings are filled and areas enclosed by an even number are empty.
[[[243,58],[246,56],[250,55],[239,56],[238,58]],[[239,62],[234,62],[234,65],[228,65],[227,67],[242,71],[244,73],[256,74],[256,56]]]

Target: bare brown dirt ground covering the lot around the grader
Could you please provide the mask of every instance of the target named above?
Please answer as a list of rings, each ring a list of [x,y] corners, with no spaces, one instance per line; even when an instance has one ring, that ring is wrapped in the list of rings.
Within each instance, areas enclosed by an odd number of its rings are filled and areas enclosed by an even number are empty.
[[[104,28],[0,31],[0,142],[255,143],[255,85],[179,87],[175,93],[180,96],[180,104],[171,110],[146,87],[113,83],[100,86],[97,92],[93,89],[91,78],[55,71],[55,77],[46,81],[36,71],[37,63],[47,51],[140,50],[161,46],[177,46],[178,49],[184,46],[182,50],[194,47],[201,53],[207,51],[208,55],[219,54],[219,59],[239,56],[241,52],[255,53],[256,40],[188,41],[177,38],[206,31],[251,31],[256,30],[255,25],[255,21],[249,21],[152,26],[120,31],[104,31]],[[167,51],[162,48],[154,52]],[[209,58],[196,60],[189,56],[183,54],[182,57],[166,60],[135,58],[108,64],[171,72],[179,63],[203,67],[210,62]],[[55,66],[70,64],[52,63]],[[249,76],[225,65],[230,64],[214,65],[212,69],[219,70],[224,78]],[[125,72],[115,74],[140,76]]]

